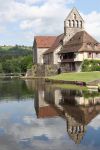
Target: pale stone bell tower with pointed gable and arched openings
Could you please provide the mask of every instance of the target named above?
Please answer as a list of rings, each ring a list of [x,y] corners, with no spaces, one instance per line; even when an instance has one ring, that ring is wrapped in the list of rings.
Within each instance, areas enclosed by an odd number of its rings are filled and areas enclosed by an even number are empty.
[[[74,7],[64,21],[65,42],[72,38],[75,33],[82,30],[84,30],[84,20]]]

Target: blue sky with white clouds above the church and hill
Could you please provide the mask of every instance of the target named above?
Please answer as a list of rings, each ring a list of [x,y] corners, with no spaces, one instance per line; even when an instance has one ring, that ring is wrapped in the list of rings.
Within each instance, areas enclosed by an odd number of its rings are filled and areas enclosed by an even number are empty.
[[[100,0],[0,0],[0,45],[32,46],[35,35],[63,33],[73,7],[100,41]]]

